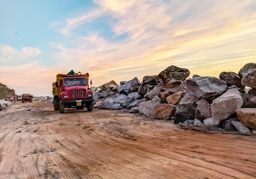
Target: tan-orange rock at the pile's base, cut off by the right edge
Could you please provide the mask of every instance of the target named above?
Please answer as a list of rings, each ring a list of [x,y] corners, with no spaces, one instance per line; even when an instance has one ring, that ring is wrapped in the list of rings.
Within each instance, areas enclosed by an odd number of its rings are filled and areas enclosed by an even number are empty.
[[[256,129],[256,108],[241,108],[236,110],[239,121],[247,127]]]

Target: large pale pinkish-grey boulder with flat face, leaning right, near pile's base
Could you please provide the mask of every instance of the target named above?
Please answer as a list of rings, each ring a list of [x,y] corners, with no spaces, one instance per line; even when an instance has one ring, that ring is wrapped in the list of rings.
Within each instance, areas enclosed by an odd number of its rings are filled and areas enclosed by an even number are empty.
[[[212,102],[212,118],[222,121],[241,108],[243,103],[244,100],[237,88],[227,90]]]

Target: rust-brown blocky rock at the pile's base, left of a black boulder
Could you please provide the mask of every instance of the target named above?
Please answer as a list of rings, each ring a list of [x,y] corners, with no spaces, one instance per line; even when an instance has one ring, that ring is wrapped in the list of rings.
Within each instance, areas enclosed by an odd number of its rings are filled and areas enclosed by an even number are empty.
[[[157,104],[153,108],[155,118],[169,120],[175,116],[176,106],[172,104]]]

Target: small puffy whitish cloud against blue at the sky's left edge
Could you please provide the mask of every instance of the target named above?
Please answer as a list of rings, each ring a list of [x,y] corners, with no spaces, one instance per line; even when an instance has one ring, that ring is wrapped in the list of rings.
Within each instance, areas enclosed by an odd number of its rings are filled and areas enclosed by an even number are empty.
[[[0,61],[19,61],[36,57],[40,53],[40,49],[32,46],[23,46],[21,49],[15,49],[9,45],[0,45]]]

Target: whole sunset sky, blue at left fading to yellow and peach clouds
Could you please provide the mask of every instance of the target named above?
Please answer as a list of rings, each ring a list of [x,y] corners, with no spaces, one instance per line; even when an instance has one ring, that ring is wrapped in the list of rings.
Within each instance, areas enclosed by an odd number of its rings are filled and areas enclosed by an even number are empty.
[[[256,63],[255,0],[0,0],[0,82],[51,96],[56,74],[97,87],[175,65],[218,77]]]

